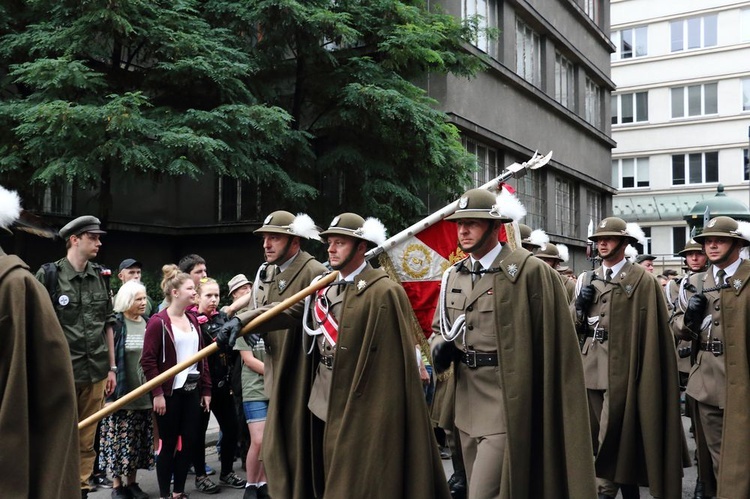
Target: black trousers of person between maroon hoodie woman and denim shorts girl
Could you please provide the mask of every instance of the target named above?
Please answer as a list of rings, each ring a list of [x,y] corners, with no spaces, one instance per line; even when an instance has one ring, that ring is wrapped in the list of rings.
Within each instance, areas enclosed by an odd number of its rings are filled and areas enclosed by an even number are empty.
[[[216,416],[221,430],[221,474],[229,473],[234,466],[235,453],[237,452],[237,411],[234,408],[234,397],[226,388],[214,388],[211,390],[211,412]],[[202,425],[196,433],[198,442],[193,452],[193,466],[195,475],[205,475],[206,468],[206,430],[210,414],[203,413]]]

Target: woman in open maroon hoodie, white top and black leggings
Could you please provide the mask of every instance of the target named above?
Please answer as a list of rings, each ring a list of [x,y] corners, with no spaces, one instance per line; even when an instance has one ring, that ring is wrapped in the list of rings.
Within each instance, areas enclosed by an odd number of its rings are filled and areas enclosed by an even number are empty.
[[[165,265],[162,273],[161,288],[167,307],[149,320],[141,356],[141,367],[148,380],[204,347],[197,319],[185,313],[195,301],[195,284],[176,265]],[[151,394],[161,436],[156,460],[159,496],[170,497],[170,480],[174,476],[171,497],[185,498],[185,479],[195,445],[195,429],[200,425],[201,411],[208,411],[211,404],[211,376],[205,359],[157,386]]]

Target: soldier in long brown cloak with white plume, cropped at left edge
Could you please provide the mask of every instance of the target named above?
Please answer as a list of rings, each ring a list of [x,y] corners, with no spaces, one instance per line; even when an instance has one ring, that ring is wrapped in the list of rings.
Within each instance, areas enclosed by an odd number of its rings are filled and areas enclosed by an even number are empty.
[[[0,187],[0,230],[20,200]],[[49,296],[15,255],[0,248],[0,490],[3,497],[75,497],[78,430],[73,369]]]

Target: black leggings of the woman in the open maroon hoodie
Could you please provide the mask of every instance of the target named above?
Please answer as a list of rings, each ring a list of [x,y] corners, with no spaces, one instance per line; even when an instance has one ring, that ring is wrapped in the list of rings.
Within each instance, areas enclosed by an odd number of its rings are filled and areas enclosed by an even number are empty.
[[[190,465],[189,456],[196,445],[195,429],[200,425],[202,408],[200,405],[200,388],[190,392],[174,390],[172,395],[164,397],[167,412],[156,415],[159,427],[161,449],[156,459],[156,478],[159,481],[159,496],[170,495],[169,485],[174,475],[174,492],[185,492],[185,479]],[[177,441],[181,437],[182,448],[177,451]]]

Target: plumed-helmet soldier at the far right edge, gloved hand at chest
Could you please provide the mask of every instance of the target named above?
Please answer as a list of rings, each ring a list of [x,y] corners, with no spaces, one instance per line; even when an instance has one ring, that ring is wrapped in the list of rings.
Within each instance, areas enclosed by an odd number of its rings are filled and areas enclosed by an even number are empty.
[[[750,497],[750,224],[719,216],[694,238],[710,266],[680,293],[674,325],[692,341],[686,393],[695,400],[698,470],[705,497]]]

